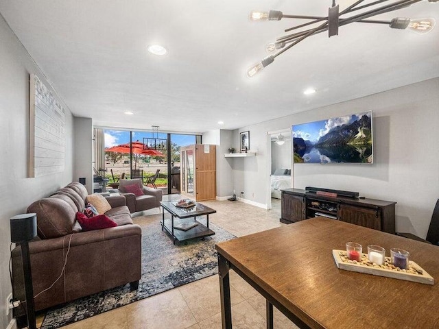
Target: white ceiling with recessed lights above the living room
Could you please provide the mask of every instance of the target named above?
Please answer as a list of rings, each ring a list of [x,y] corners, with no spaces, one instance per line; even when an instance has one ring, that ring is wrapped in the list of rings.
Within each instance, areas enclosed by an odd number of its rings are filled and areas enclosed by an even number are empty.
[[[342,9],[353,2],[337,1]],[[331,3],[0,0],[0,13],[73,114],[106,127],[231,130],[439,76],[439,25],[420,36],[364,23],[311,36],[245,76],[267,56],[265,45],[298,23],[252,23],[250,10],[326,16]],[[375,19],[395,16],[439,23],[439,3]],[[169,53],[147,53],[154,43]],[[310,86],[318,93],[303,95]]]

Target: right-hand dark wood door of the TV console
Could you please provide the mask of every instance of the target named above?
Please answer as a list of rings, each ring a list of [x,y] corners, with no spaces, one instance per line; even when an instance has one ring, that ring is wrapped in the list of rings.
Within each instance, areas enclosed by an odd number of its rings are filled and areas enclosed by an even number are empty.
[[[381,231],[381,210],[379,208],[359,208],[358,206],[340,204],[337,215],[340,221]]]

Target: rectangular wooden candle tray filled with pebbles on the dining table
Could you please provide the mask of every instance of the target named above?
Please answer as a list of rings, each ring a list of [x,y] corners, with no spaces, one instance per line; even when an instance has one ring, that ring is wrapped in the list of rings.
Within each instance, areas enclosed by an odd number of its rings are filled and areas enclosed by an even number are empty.
[[[432,278],[425,269],[420,267],[418,264],[414,263],[414,261],[410,260],[409,267],[415,269],[418,273],[409,273],[402,270],[396,269],[383,269],[381,267],[372,267],[367,266],[361,263],[346,263],[342,260],[340,254],[346,254],[346,250],[337,250],[333,249],[332,255],[334,257],[335,263],[339,269],[345,269],[346,271],[353,271],[359,273],[367,273],[372,274],[374,276],[385,276],[387,278],[394,278],[399,280],[406,280],[412,282],[418,282],[423,284],[434,284],[434,278]],[[363,258],[367,254],[363,254]],[[386,262],[390,263],[390,257],[385,257]],[[378,266],[378,265],[377,265]]]

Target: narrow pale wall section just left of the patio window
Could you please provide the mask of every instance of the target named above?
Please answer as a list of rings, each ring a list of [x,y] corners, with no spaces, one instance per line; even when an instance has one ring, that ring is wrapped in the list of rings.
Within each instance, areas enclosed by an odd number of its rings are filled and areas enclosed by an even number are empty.
[[[93,122],[91,118],[75,117],[73,120],[76,154],[73,167],[73,180],[85,178],[88,194],[93,193]]]

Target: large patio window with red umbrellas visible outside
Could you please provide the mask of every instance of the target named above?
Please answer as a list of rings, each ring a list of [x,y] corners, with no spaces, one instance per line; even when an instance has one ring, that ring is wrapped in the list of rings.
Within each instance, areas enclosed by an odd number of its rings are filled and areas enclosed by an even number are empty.
[[[104,172],[109,188],[117,188],[121,177],[142,178],[143,184],[160,188],[163,194],[180,193],[180,147],[201,142],[201,136],[193,134],[103,132]]]

